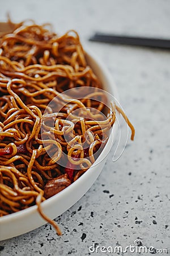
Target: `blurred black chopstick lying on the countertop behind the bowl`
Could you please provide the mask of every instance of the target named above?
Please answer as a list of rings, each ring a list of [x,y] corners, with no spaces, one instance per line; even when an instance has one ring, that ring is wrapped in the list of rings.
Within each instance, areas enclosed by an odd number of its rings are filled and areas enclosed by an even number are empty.
[[[146,38],[138,36],[124,36],[124,35],[110,35],[103,33],[96,33],[92,36],[90,41],[94,42],[104,42],[112,44],[126,44],[130,46],[144,46],[144,47],[154,47],[162,49],[170,49],[170,39],[160,39],[160,38]]]

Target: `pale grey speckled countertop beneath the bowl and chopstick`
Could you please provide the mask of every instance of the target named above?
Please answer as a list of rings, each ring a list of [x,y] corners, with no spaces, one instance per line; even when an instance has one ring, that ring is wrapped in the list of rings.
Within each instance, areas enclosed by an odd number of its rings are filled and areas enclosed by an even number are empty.
[[[111,72],[136,135],[117,162],[110,152],[91,189],[56,219],[62,237],[46,224],[0,242],[1,256],[103,255],[90,253],[90,246],[125,248],[137,239],[170,254],[170,52],[87,41],[97,30],[170,38],[169,1],[11,0],[3,1],[1,20],[7,11],[15,21],[33,18],[52,22],[58,32],[77,30]]]

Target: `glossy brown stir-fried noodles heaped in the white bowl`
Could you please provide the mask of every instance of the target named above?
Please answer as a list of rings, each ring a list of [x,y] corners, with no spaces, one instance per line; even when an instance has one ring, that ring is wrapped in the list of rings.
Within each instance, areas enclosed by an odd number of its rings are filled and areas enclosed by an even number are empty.
[[[10,34],[1,36],[0,216],[36,204],[41,216],[61,234],[56,222],[42,212],[41,202],[69,186],[95,162],[95,152],[107,142],[108,127],[115,122],[117,111],[128,122],[133,140],[134,128],[116,105],[111,106],[104,121],[102,94],[96,92],[96,100],[87,97],[71,99],[71,102],[69,97],[59,96],[68,89],[82,86],[101,88],[99,79],[86,63],[75,31],[58,36],[48,29],[48,24],[22,22],[16,24]],[[65,105],[57,117],[48,107],[56,96]],[[49,136],[44,144],[41,125],[46,109],[44,125],[48,130],[48,118],[54,120],[55,141]],[[73,113],[76,109],[80,110],[79,118]],[[101,114],[92,113],[91,109]],[[96,119],[80,118],[84,112]],[[63,136],[64,130],[67,139]],[[84,150],[81,145],[85,133],[88,143]],[[55,143],[57,152],[52,149]],[[53,158],[46,152],[47,148]],[[66,167],[58,164],[62,152],[67,155]]]

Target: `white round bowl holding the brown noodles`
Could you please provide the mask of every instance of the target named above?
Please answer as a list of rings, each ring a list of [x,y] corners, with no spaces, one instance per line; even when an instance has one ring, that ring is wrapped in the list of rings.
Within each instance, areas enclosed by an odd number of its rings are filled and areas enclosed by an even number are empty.
[[[111,75],[105,68],[104,63],[99,61],[94,54],[86,51],[87,63],[92,67],[94,73],[103,84],[103,89],[111,93],[117,100],[118,94]],[[112,133],[116,132],[116,125],[113,125]],[[76,203],[87,191],[99,176],[105,164],[106,156],[112,145],[109,137],[104,150],[95,162],[78,180],[57,195],[45,200],[42,205],[43,212],[54,219]],[[98,163],[98,164],[97,164]],[[36,205],[20,212],[0,217],[0,241],[27,233],[44,225],[46,221],[37,212]]]

